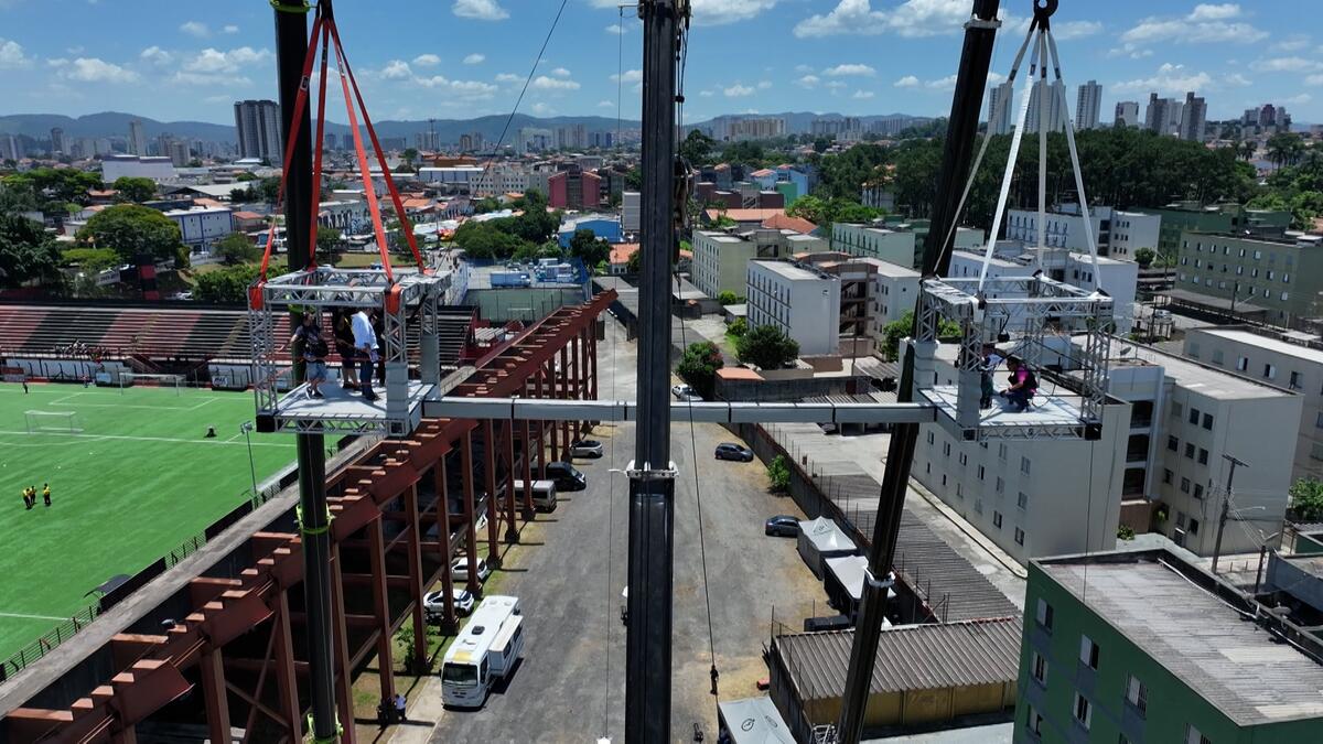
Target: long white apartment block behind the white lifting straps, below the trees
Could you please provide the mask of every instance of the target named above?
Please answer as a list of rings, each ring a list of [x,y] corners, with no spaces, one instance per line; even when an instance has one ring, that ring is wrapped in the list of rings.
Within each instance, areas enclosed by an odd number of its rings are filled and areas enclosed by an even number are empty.
[[[1158,234],[1162,216],[1122,212],[1111,207],[1090,207],[1089,222],[1098,256],[1111,256],[1134,259],[1134,252],[1140,248],[1158,250]],[[1062,204],[1046,214],[1048,248],[1069,248],[1089,250],[1089,234],[1085,232],[1084,214],[1078,204]],[[1005,210],[1005,240],[1020,241],[1028,246],[1039,245],[1039,212],[1036,209]]]

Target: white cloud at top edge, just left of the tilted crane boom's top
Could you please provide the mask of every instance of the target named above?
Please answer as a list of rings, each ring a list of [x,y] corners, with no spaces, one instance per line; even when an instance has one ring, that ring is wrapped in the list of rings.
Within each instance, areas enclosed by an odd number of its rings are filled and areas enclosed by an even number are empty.
[[[893,32],[905,37],[955,33],[970,20],[966,0],[905,0],[890,11],[875,11],[871,0],[840,0],[827,15],[812,15],[795,25],[795,36],[876,36]]]

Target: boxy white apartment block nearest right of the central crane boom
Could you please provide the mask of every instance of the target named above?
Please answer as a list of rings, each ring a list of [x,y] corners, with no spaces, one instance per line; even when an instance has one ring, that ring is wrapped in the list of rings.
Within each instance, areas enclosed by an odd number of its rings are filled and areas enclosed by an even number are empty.
[[[750,327],[774,326],[803,356],[840,353],[840,279],[789,261],[749,261]]]

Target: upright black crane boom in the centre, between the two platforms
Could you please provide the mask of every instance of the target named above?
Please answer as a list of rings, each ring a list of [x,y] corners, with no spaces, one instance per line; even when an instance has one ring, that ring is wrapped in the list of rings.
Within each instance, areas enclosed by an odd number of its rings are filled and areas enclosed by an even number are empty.
[[[643,277],[639,417],[630,477],[624,740],[671,741],[675,466],[671,463],[671,254],[675,249],[676,56],[688,0],[643,0]]]

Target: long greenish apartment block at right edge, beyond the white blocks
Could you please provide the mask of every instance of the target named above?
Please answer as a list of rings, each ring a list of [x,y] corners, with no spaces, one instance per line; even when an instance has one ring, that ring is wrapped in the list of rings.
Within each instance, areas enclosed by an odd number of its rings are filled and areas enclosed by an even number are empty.
[[[1176,289],[1265,320],[1320,314],[1323,236],[1193,233],[1180,240]]]

